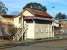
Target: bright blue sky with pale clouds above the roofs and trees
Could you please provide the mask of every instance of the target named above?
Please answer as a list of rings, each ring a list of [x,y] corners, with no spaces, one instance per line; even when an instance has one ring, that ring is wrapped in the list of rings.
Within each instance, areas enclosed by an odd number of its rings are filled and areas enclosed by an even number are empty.
[[[21,12],[22,8],[30,2],[37,2],[46,6],[47,12],[55,16],[62,12],[67,15],[67,0],[1,0],[8,8],[8,14]]]

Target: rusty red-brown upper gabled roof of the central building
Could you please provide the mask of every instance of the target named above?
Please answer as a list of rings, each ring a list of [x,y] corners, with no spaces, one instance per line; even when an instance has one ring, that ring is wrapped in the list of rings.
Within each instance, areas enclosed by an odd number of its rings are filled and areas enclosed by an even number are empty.
[[[30,13],[34,14],[35,16],[42,17],[42,18],[52,18],[46,11],[36,10],[33,8],[26,8],[25,10],[28,10]],[[24,10],[24,11],[25,11]],[[23,11],[23,12],[24,12]]]

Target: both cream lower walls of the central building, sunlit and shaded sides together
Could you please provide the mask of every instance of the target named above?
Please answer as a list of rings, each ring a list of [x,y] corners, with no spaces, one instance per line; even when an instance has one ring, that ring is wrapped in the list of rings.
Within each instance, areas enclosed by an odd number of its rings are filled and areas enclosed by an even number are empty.
[[[50,24],[27,23],[27,25],[28,30],[25,36],[27,39],[54,37]]]

